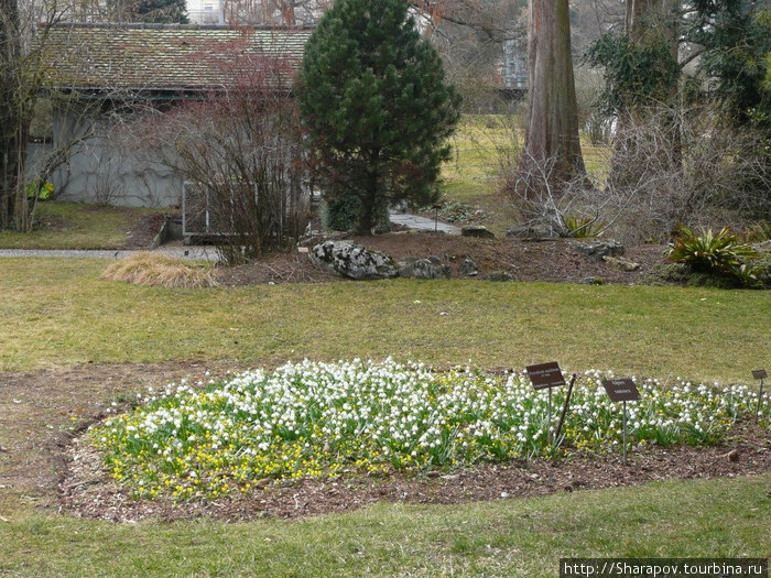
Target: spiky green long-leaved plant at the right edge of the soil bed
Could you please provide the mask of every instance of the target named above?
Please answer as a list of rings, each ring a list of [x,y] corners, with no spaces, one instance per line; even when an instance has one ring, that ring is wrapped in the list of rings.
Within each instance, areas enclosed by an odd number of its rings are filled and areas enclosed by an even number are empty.
[[[739,242],[738,237],[726,227],[717,235],[712,229],[703,229],[701,235],[696,235],[682,226],[670,251],[672,261],[688,265],[694,273],[727,277],[726,281],[732,279],[743,287],[759,284],[753,269],[747,263],[747,260],[754,258],[754,250]]]

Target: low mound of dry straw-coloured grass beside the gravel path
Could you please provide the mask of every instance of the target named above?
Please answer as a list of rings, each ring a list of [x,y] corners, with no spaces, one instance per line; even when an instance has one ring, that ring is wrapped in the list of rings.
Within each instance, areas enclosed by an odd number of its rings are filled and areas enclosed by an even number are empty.
[[[218,284],[210,270],[151,252],[116,261],[101,274],[101,279],[161,287],[213,287]]]

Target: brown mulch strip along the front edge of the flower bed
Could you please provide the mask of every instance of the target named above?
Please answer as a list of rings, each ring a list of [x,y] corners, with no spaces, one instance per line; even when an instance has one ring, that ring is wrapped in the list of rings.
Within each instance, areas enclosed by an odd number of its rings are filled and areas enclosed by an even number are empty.
[[[68,475],[61,484],[61,503],[75,515],[115,522],[199,516],[235,522],[347,512],[379,501],[457,504],[632,487],[673,478],[730,478],[771,471],[769,432],[753,424],[743,424],[740,430],[741,436],[708,448],[638,447],[631,451],[627,466],[618,455],[573,455],[486,465],[453,473],[265,482],[247,495],[188,502],[131,499],[124,488],[108,479],[99,456],[76,444],[69,452]]]

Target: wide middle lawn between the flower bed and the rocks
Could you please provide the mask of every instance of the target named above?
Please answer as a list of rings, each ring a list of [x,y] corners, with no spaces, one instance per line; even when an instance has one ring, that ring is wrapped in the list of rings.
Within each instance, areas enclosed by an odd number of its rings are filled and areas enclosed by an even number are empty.
[[[0,260],[0,370],[393,355],[729,382],[769,355],[769,292],[461,280],[183,290],[99,280],[106,266]]]

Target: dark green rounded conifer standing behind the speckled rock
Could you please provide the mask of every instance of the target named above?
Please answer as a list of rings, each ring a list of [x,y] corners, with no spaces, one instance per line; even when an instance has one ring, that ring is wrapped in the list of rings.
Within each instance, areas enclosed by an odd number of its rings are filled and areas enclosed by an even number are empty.
[[[338,0],[305,48],[297,101],[326,195],[359,204],[357,232],[377,208],[436,198],[459,96],[420,39],[403,0]]]

